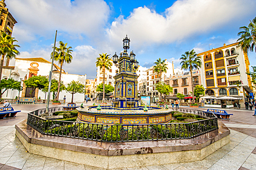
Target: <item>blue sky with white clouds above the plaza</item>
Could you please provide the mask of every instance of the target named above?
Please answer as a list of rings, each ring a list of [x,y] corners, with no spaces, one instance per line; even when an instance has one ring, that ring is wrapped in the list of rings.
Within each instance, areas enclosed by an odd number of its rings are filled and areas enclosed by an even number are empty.
[[[57,42],[73,49],[73,61],[63,69],[90,79],[96,77],[99,54],[120,54],[126,35],[139,65],[151,67],[161,58],[179,68],[187,51],[235,43],[239,27],[256,17],[255,0],[6,0],[6,5],[17,20],[12,36],[21,46],[19,58],[51,61],[57,30]],[[256,65],[255,52],[249,59]]]

